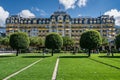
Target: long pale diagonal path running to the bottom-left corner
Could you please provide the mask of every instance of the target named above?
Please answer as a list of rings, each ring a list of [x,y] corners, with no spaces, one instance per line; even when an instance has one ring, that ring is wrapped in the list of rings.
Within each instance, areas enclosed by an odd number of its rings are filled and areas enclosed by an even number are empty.
[[[15,75],[19,74],[20,72],[22,72],[22,71],[24,71],[24,70],[28,69],[28,68],[29,68],[29,67],[31,67],[31,66],[33,66],[33,65],[37,64],[37,63],[38,63],[38,62],[40,62],[41,60],[42,60],[42,59],[40,59],[40,60],[37,60],[37,61],[33,62],[32,64],[30,64],[30,65],[28,65],[27,67],[22,68],[21,70],[19,70],[19,71],[17,71],[17,72],[15,72],[15,73],[13,73],[13,74],[11,74],[11,75],[9,75],[8,77],[4,78],[3,80],[8,80],[9,78],[11,78],[11,77],[13,77],[13,76],[15,76]]]

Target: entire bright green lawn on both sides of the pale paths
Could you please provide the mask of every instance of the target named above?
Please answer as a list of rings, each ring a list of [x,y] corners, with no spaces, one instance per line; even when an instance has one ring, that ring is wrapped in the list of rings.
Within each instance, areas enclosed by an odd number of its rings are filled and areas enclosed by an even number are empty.
[[[57,80],[120,80],[120,54],[20,54],[0,56],[0,80],[42,58],[40,62],[9,80],[51,80],[60,56]]]

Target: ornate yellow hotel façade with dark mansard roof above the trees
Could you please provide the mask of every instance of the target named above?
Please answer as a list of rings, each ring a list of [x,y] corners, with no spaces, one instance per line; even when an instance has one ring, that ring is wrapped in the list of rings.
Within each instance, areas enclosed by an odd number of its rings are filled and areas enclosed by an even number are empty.
[[[115,19],[108,15],[97,18],[71,18],[63,11],[54,12],[50,18],[22,18],[12,15],[6,19],[6,33],[17,31],[28,33],[29,36],[45,37],[50,32],[62,36],[70,36],[79,43],[81,34],[86,30],[97,30],[109,41],[115,38]]]

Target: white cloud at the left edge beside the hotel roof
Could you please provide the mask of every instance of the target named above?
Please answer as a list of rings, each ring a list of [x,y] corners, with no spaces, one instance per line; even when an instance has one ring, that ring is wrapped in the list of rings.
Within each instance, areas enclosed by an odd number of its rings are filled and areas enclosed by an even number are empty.
[[[0,6],[0,26],[5,26],[5,20],[9,16],[9,12],[5,11],[3,7]]]

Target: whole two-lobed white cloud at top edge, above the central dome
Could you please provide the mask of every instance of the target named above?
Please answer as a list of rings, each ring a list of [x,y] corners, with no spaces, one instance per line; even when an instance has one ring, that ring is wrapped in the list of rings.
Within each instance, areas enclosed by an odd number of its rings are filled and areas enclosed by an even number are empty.
[[[87,0],[59,0],[65,9],[74,9],[76,6],[85,7]]]

